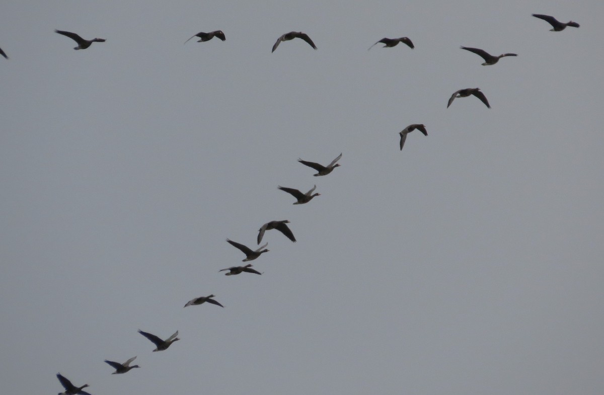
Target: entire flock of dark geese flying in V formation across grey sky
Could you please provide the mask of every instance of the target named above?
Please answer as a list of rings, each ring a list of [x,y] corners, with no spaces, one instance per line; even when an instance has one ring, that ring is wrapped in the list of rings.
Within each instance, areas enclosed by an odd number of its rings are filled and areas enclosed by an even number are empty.
[[[579,27],[579,24],[577,24],[576,22],[573,22],[573,21],[566,22],[566,23],[559,22],[553,16],[548,16],[548,15],[543,15],[543,14],[533,14],[533,16],[535,18],[539,18],[539,19],[543,19],[544,21],[547,21],[553,27],[551,29],[551,31],[562,31],[567,26],[577,27],[577,28]],[[74,47],[74,50],[85,50],[86,48],[89,48],[92,45],[92,43],[94,43],[94,42],[104,42],[105,41],[105,39],[100,39],[100,38],[94,38],[94,39],[90,39],[90,40],[83,39],[81,36],[79,36],[79,34],[71,33],[70,31],[55,30],[55,32],[74,40],[77,43],[77,47]],[[226,40],[225,34],[221,30],[216,30],[216,31],[211,31],[210,33],[199,32],[197,34],[194,34],[187,41],[185,41],[185,43],[187,43],[189,40],[193,39],[193,37],[198,37],[199,38],[198,42],[206,42],[208,40],[213,39],[214,37],[217,37],[218,39],[220,39],[222,41]],[[289,33],[283,34],[282,36],[280,36],[277,39],[277,41],[274,43],[274,45],[272,47],[271,52],[274,52],[277,49],[277,47],[280,45],[281,42],[293,40],[296,38],[304,40],[305,42],[307,42],[310,45],[310,47],[312,47],[315,50],[317,49],[315,43],[313,43],[312,39],[310,39],[310,37],[306,33],[302,33],[300,31],[291,31]],[[396,45],[398,45],[399,42],[404,43],[411,49],[414,48],[413,42],[411,42],[411,40],[408,37],[399,37],[396,39],[390,39],[390,38],[384,37],[383,39],[381,39],[381,40],[377,41],[376,43],[374,43],[373,45],[371,45],[371,47],[369,47],[368,50],[373,48],[374,45],[377,45],[378,43],[383,43],[384,48],[391,48],[391,47],[396,47]],[[516,54],[513,54],[513,53],[505,53],[505,54],[501,54],[498,56],[493,56],[479,48],[461,47],[461,49],[470,51],[470,52],[475,53],[478,56],[482,57],[484,59],[484,63],[482,63],[483,66],[495,65],[502,57],[517,56]],[[0,48],[0,55],[4,56],[5,59],[8,59],[7,54],[5,54],[1,48]],[[455,100],[455,98],[468,97],[471,95],[477,97],[480,101],[482,101],[484,103],[485,106],[487,106],[487,108],[490,108],[489,101],[487,100],[487,98],[483,94],[483,92],[480,91],[480,88],[465,88],[465,89],[460,89],[460,90],[454,92],[454,94],[451,95],[451,98],[449,98],[447,108],[449,108],[449,106],[451,106],[451,103]],[[423,133],[423,135],[428,136],[428,131],[426,130],[425,125],[423,125],[423,124],[411,124],[411,125],[405,127],[405,129],[403,129],[399,132],[401,150],[403,149],[403,146],[405,145],[405,140],[407,138],[407,135],[409,133],[413,132],[414,130],[419,130],[420,132]],[[337,162],[341,158],[342,158],[342,154],[340,153],[335,159],[333,159],[332,162],[330,162],[330,164],[325,165],[325,166],[315,163],[315,162],[304,161],[303,159],[298,159],[298,162],[316,170],[317,173],[314,176],[326,176],[326,175],[329,175],[330,173],[332,173],[333,170],[339,166],[339,164]],[[316,189],[316,185],[314,185],[306,193],[303,193],[300,190],[297,190],[295,188],[287,188],[287,187],[279,186],[278,189],[294,196],[296,199],[294,204],[306,204],[306,203],[310,202],[313,199],[313,197],[320,196],[320,193],[313,193]],[[258,231],[258,237],[257,237],[258,245],[260,245],[260,243],[262,242],[262,239],[265,235],[265,232],[268,230],[278,230],[281,233],[283,233],[284,236],[288,237],[289,240],[291,240],[292,242],[295,242],[296,239],[294,237],[294,233],[292,233],[291,229],[287,225],[288,223],[290,223],[289,220],[273,220],[273,221],[267,222],[264,225],[262,225]],[[260,257],[260,255],[269,251],[268,249],[266,249],[266,246],[268,246],[268,243],[265,243],[260,248],[252,250],[248,246],[234,242],[233,240],[230,240],[230,239],[226,239],[226,242],[228,242],[230,245],[234,246],[235,248],[237,248],[241,252],[243,252],[243,254],[245,254],[245,259],[243,259],[243,262],[248,262],[251,260],[258,259]],[[223,272],[223,271],[226,271],[225,275],[237,275],[237,274],[241,274],[243,272],[262,274],[261,272],[256,271],[255,269],[252,269],[251,263],[248,263],[245,266],[231,266],[230,268],[219,270],[219,272]],[[214,297],[215,297],[215,295],[208,295],[206,297],[193,298],[190,301],[188,301],[184,307],[197,306],[199,304],[204,304],[204,303],[210,303],[210,304],[215,304],[216,306],[224,307],[218,301],[214,300]],[[140,333],[141,335],[143,335],[144,337],[149,339],[149,341],[153,342],[153,344],[155,344],[155,349],[153,350],[153,352],[167,350],[167,348],[169,348],[170,345],[173,344],[173,342],[176,342],[179,340],[178,330],[175,333],[173,333],[172,336],[170,336],[169,338],[167,338],[165,340],[159,338],[156,335],[153,335],[152,333],[143,332],[140,329],[138,330],[138,333]],[[115,369],[115,371],[112,374],[123,374],[123,373],[127,373],[128,371],[132,370],[133,368],[139,368],[138,365],[130,365],[136,358],[137,358],[136,356],[133,356],[132,358],[128,359],[126,362],[123,362],[123,363],[108,361],[108,360],[105,360],[104,362],[106,362],[108,365],[110,365],[112,368]],[[59,393],[59,395],[90,395],[86,391],[83,391],[83,388],[89,387],[88,384],[84,384],[80,387],[77,387],[76,385],[73,385],[71,383],[71,381],[69,381],[65,376],[63,376],[60,373],[57,373],[57,379],[59,379],[60,384],[65,388],[65,391],[63,391],[63,393]]]

